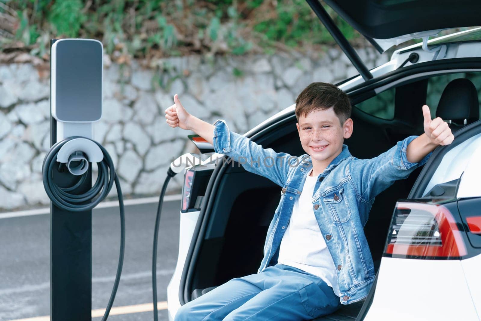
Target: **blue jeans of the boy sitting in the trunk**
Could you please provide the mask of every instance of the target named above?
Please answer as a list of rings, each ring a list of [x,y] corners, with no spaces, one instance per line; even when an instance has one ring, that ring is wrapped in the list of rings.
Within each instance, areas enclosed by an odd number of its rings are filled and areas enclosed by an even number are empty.
[[[339,296],[316,275],[276,264],[232,279],[179,308],[183,320],[311,320],[341,307]]]

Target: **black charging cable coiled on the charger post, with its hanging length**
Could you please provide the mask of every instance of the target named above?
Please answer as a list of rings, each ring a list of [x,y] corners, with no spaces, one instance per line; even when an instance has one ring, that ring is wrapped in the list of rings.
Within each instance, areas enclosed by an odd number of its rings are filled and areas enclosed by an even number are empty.
[[[51,202],[69,212],[82,212],[89,211],[93,209],[97,204],[99,204],[108,195],[112,186],[115,182],[115,188],[117,189],[117,197],[119,200],[120,208],[120,253],[119,262],[117,265],[117,273],[115,275],[114,287],[112,288],[112,293],[110,295],[107,308],[102,317],[102,321],[107,320],[110,309],[114,304],[115,294],[117,293],[117,288],[120,282],[120,275],[122,274],[122,266],[124,264],[124,252],[125,252],[125,209],[124,209],[124,199],[122,197],[122,190],[120,188],[120,181],[115,174],[114,162],[110,157],[109,153],[103,148],[101,144],[97,141],[95,142],[101,149],[103,153],[103,159],[101,162],[97,163],[99,168],[99,174],[95,184],[92,188],[82,194],[71,194],[69,192],[74,191],[78,186],[80,186],[87,179],[87,171],[85,174],[80,176],[80,179],[71,187],[59,187],[53,181],[53,168],[57,163],[57,155],[62,148],[63,144],[67,141],[73,140],[75,138],[84,138],[80,136],[69,137],[63,141],[55,143],[50,151],[45,155],[42,165],[42,175],[43,175],[43,186],[45,187],[45,192],[49,196]],[[98,197],[94,199],[94,197]],[[89,202],[90,201],[90,202]]]

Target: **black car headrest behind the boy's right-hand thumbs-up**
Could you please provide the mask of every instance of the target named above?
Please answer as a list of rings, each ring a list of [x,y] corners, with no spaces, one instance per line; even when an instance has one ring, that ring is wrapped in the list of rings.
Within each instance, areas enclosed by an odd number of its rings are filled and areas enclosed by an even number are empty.
[[[443,90],[436,109],[436,117],[452,120],[458,125],[470,124],[480,118],[478,91],[471,80],[451,80]]]

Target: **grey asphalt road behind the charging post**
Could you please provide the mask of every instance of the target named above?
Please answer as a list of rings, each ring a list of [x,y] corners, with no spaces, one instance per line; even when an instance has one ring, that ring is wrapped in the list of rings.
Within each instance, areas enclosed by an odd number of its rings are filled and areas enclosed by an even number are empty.
[[[180,201],[164,201],[157,260],[158,301],[178,255]],[[152,303],[152,241],[157,204],[126,206],[126,249],[114,307]],[[105,308],[117,269],[118,207],[92,213],[92,309]],[[0,321],[50,315],[50,215],[0,219]],[[93,320],[101,320],[95,318]],[[152,312],[110,316],[112,321],[152,320]],[[159,310],[167,320],[167,310]]]

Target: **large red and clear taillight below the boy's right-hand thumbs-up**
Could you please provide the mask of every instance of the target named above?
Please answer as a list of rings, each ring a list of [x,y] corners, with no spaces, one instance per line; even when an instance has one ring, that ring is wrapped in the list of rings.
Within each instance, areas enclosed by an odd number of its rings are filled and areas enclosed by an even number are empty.
[[[459,259],[467,250],[456,219],[445,206],[398,202],[385,254]]]

